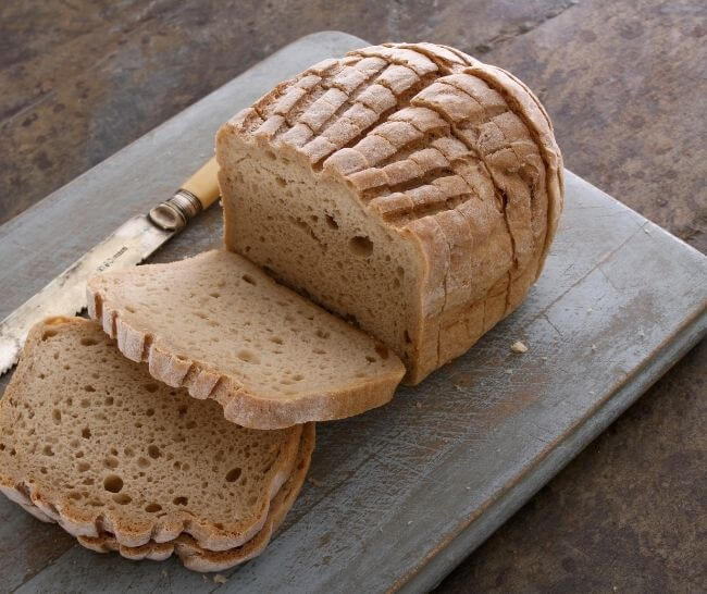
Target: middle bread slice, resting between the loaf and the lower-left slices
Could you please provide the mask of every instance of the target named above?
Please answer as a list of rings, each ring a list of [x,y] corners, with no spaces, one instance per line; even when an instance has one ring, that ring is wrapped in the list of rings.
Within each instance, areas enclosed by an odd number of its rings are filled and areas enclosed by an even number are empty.
[[[371,337],[223,250],[88,282],[88,309],[150,374],[257,429],[387,403],[405,372]]]

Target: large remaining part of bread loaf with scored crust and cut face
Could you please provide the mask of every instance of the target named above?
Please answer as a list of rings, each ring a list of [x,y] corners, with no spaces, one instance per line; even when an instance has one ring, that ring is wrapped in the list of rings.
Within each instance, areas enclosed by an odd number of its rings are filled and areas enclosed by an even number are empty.
[[[417,383],[508,315],[562,208],[550,121],[512,75],[388,44],[219,132],[226,246],[388,345]]]

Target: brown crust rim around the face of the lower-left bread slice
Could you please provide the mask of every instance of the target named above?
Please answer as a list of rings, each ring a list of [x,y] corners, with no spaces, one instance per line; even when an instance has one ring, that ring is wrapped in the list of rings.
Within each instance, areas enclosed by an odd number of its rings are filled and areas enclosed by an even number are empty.
[[[17,369],[0,400],[0,422],[3,431],[12,425],[12,403],[22,400],[25,380],[33,373],[34,352],[42,343],[45,331],[61,324],[95,326],[92,322],[80,318],[54,318],[40,322],[30,330]],[[87,512],[85,508],[79,509],[67,493],[53,492],[29,482],[23,469],[16,468],[13,458],[9,456],[10,448],[0,451],[0,491],[38,519],[57,522],[74,536],[97,537],[101,533],[110,532],[121,545],[138,547],[150,541],[163,543],[186,534],[200,547],[227,550],[247,543],[261,531],[268,518],[271,499],[292,474],[302,425],[285,431],[287,436],[282,442],[275,463],[269,471],[269,482],[258,509],[251,518],[223,528],[215,527],[208,518],[197,518],[186,512],[170,512],[149,522],[137,522],[110,509],[96,508],[95,511]]]

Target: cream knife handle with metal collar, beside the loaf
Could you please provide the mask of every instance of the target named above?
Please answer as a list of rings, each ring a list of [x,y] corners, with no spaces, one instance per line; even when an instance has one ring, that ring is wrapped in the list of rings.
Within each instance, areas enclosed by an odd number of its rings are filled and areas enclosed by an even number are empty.
[[[150,221],[166,231],[181,231],[199,212],[219,198],[219,164],[209,159],[182,187],[164,202],[150,210]]]

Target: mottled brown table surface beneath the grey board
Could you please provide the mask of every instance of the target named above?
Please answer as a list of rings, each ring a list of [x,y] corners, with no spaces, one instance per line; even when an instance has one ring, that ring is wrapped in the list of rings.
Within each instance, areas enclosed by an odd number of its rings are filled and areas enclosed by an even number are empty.
[[[3,3],[0,222],[325,28],[511,70],[547,106],[569,169],[707,249],[704,2]],[[706,368],[703,343],[439,590],[707,587]]]

